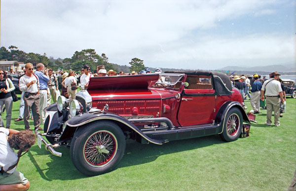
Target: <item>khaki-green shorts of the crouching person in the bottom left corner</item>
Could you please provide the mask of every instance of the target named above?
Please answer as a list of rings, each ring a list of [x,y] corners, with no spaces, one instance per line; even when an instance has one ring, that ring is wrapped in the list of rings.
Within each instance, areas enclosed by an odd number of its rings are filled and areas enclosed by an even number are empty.
[[[0,173],[0,185],[22,184],[26,185],[28,179],[24,177],[23,173],[15,170],[12,174]]]

